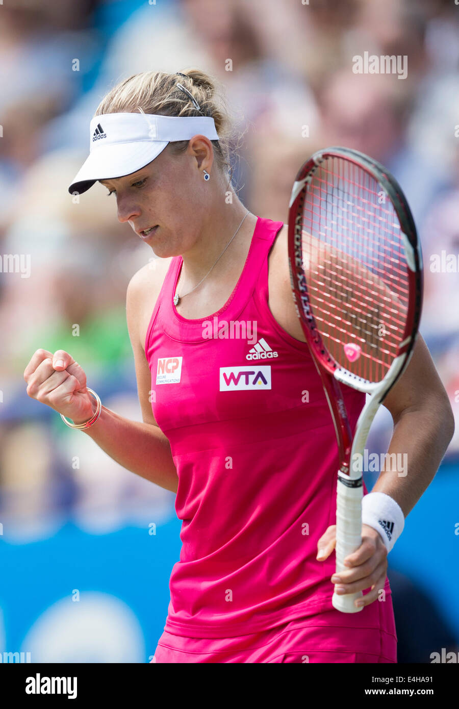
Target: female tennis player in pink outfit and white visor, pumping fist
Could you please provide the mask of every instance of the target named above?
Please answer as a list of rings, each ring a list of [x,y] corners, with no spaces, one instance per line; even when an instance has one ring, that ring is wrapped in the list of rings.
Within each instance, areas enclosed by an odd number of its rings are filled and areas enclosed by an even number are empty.
[[[294,309],[287,225],[233,190],[223,106],[199,70],[126,79],[97,108],[69,188],[101,182],[159,257],[127,291],[143,423],[102,406],[63,350],[33,354],[27,393],[177,493],[182,551],[153,661],[396,662],[387,553],[452,437],[448,397],[419,337],[385,399],[389,453],[408,469],[378,477],[337,578],[336,437]],[[364,398],[345,387],[351,425]],[[363,609],[335,610],[335,587],[363,591]]]

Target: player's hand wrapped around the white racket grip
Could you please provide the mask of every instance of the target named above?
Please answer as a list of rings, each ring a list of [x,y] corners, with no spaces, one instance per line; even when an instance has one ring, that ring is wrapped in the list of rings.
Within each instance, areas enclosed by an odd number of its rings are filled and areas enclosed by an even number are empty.
[[[335,545],[336,525],[331,525],[317,542],[317,560],[325,561]],[[321,555],[320,551],[323,552]],[[365,596],[358,598],[356,605],[370,605],[376,601],[378,593],[385,586],[387,574],[387,549],[380,533],[368,525],[362,525],[362,544],[355,552],[345,557],[344,564],[348,569],[331,577],[332,584],[336,584],[336,593],[343,596],[345,593],[371,588]]]

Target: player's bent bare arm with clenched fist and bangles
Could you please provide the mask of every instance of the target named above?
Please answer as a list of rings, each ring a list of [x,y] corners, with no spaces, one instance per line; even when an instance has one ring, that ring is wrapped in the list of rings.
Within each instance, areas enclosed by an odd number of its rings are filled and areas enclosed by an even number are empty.
[[[124,418],[102,406],[96,423],[82,431],[123,468],[176,493],[178,476],[169,440],[157,426],[149,401],[150,369],[145,359],[139,327],[142,295],[145,308],[142,279],[145,279],[145,274],[140,272],[131,279],[126,296],[126,311],[143,423]],[[151,304],[152,311],[154,304]],[[64,362],[60,367],[53,365],[58,359]],[[96,411],[96,401],[85,391],[86,375],[64,350],[57,350],[55,354],[37,350],[26,367],[24,379],[28,382],[29,396],[67,415],[74,423],[84,423]]]

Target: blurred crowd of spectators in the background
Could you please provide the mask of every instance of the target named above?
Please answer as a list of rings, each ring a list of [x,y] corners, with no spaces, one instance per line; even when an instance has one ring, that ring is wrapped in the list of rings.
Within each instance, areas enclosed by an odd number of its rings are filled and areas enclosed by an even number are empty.
[[[87,157],[101,98],[145,70],[197,67],[223,82],[241,135],[234,186],[259,216],[287,221],[294,175],[319,147],[353,147],[387,165],[421,236],[421,333],[458,417],[458,17],[450,0],[1,6],[0,256],[31,257],[28,277],[0,277],[3,519],[13,515],[26,530],[40,515],[67,510],[90,526],[95,511],[109,530],[152,506],[159,516],[173,512],[171,493],[67,429],[26,395],[23,380],[38,347],[62,348],[106,406],[141,420],[125,299],[152,252],[118,223],[106,189],[97,184],[76,205],[67,186]],[[406,56],[407,77],[353,73],[353,57],[365,52]],[[443,251],[456,255],[455,271],[431,268]]]

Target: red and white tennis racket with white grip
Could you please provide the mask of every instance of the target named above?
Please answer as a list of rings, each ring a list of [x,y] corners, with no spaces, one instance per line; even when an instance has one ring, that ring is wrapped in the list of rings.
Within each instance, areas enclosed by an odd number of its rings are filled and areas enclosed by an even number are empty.
[[[381,164],[356,150],[319,150],[289,202],[289,269],[299,320],[321,375],[338,441],[336,571],[362,543],[362,468],[370,425],[413,352],[422,255],[407,200]],[[370,394],[350,430],[341,384]],[[362,458],[360,458],[360,461]],[[357,470],[356,470],[357,468]],[[362,591],[332,605],[356,613]]]

